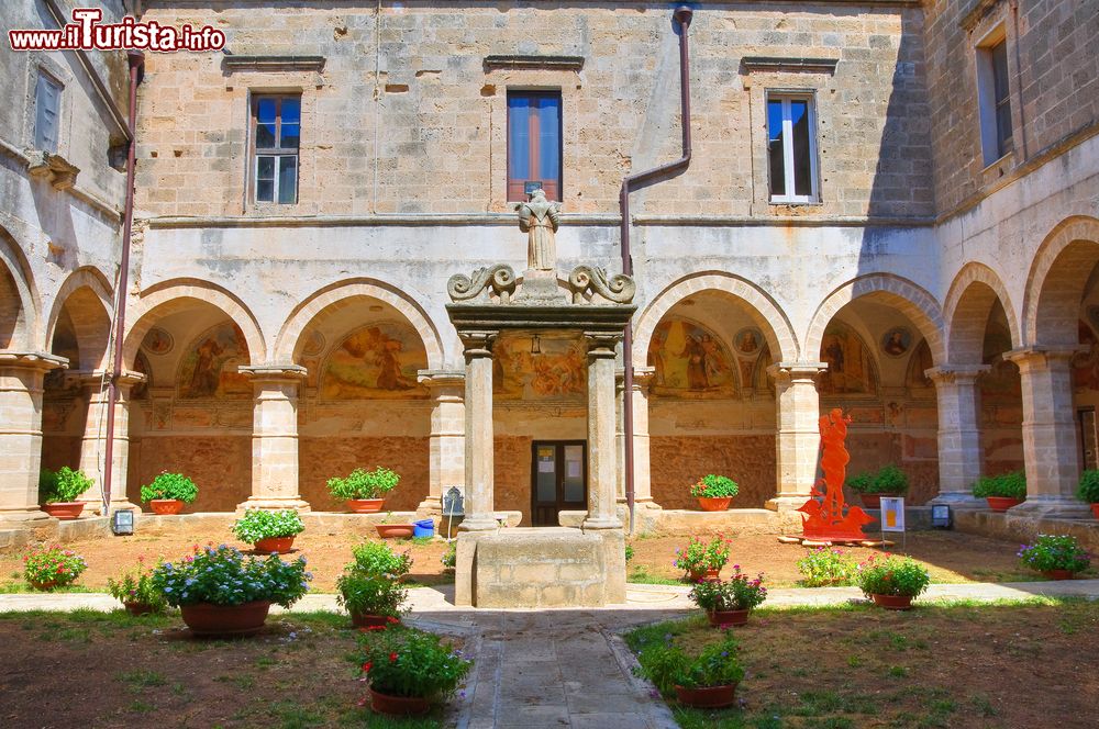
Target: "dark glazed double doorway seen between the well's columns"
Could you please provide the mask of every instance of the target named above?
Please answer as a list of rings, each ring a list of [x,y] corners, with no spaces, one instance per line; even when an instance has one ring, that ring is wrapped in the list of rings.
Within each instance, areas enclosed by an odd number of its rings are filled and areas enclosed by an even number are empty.
[[[535,440],[531,449],[531,521],[556,527],[557,513],[588,508],[588,446],[584,440]]]

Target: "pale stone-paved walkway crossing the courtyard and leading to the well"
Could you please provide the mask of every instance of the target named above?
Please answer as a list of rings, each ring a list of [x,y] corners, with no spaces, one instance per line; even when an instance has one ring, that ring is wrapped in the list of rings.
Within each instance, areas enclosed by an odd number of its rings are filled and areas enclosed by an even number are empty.
[[[647,684],[619,633],[682,615],[693,606],[678,585],[630,585],[626,604],[604,608],[475,610],[455,607],[447,587],[410,591],[418,627],[463,636],[477,663],[449,718],[458,729],[673,729],[677,725]],[[1099,580],[932,585],[920,602],[976,602],[1080,596],[1099,599]],[[857,587],[779,588],[770,606],[836,605],[862,599]],[[0,612],[88,608],[119,603],[101,593],[0,595]],[[309,595],[295,610],[337,610],[333,595]],[[274,608],[273,612],[280,612]]]

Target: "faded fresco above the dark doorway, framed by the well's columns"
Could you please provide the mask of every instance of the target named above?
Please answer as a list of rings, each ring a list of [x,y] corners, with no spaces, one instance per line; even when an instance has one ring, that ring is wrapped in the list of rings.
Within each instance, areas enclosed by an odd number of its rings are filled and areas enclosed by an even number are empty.
[[[501,336],[492,348],[492,393],[500,400],[575,400],[587,392],[587,354],[570,334]]]

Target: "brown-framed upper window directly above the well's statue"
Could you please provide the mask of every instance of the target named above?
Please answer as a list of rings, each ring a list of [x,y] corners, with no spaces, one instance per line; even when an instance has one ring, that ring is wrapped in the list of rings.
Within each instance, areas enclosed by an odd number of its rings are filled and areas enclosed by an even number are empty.
[[[540,186],[560,200],[560,92],[508,92],[508,200]]]

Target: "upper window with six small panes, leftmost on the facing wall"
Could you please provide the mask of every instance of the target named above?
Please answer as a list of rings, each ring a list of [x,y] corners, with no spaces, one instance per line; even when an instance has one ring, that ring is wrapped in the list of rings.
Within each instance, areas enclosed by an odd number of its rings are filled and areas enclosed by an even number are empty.
[[[298,202],[301,97],[255,97],[252,101],[256,202]]]

